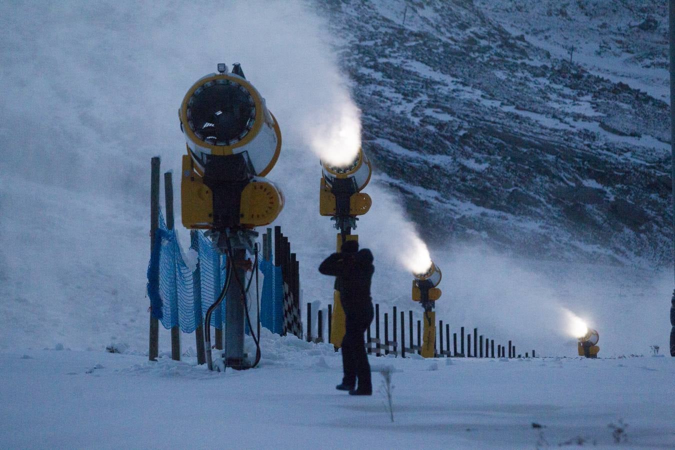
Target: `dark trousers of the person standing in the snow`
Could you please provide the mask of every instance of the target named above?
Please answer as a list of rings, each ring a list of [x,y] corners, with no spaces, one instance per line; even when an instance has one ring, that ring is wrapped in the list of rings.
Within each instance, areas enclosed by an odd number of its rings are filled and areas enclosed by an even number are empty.
[[[371,382],[371,365],[368,363],[363,333],[371,326],[373,315],[372,304],[365,312],[348,314],[341,346],[342,369],[344,371],[342,384],[356,386],[358,378],[358,389],[366,391],[373,390],[373,383]]]

